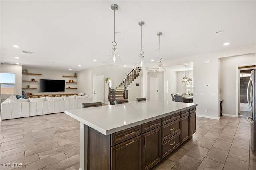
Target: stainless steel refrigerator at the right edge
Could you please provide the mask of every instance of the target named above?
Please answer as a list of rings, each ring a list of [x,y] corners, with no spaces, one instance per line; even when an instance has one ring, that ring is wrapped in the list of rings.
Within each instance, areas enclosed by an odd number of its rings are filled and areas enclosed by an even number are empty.
[[[250,126],[250,147],[256,151],[256,72],[252,70],[251,77],[247,87],[247,102],[251,111],[251,115],[247,117]]]

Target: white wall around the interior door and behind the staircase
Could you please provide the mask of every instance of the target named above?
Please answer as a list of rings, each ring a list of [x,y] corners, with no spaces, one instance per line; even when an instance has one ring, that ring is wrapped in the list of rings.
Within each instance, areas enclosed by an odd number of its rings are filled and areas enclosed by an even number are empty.
[[[132,71],[132,68],[120,67],[120,66],[101,66],[95,67],[91,69],[86,69],[79,71],[77,73],[79,85],[78,92],[84,91],[82,93],[87,93],[89,96],[93,97],[92,88],[93,88],[93,75],[104,75],[105,79],[110,77],[112,82],[112,89],[119,86],[128,73]],[[80,84],[81,83],[81,84]],[[134,84],[134,83],[132,83]],[[134,95],[132,92],[141,93],[141,91],[137,90],[136,87],[133,88],[133,85],[129,87],[129,101],[133,101]],[[140,89],[140,88],[139,88]],[[139,92],[138,92],[139,91]],[[135,99],[134,99],[135,101]],[[108,103],[108,83],[105,83],[105,103]]]

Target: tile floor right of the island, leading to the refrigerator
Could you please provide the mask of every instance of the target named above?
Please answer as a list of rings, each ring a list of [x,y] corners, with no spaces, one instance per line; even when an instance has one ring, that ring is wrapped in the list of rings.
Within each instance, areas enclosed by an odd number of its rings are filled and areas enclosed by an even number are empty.
[[[256,170],[249,147],[250,123],[243,118],[197,117],[196,133],[154,170]]]

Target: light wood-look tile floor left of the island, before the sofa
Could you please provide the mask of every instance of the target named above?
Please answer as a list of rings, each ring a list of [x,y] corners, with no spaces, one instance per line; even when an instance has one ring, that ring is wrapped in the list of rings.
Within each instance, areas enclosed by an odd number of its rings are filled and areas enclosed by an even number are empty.
[[[1,170],[79,169],[80,123],[65,113],[4,120],[0,124]],[[22,167],[17,168],[20,163]]]

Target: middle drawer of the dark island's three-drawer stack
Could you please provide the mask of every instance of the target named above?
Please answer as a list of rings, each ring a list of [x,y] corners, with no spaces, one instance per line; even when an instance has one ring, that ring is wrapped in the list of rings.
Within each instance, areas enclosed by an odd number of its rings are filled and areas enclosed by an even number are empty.
[[[180,119],[177,119],[176,121],[172,121],[166,125],[162,126],[162,141],[168,139],[172,135],[176,134],[177,132],[180,132]]]

